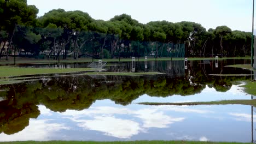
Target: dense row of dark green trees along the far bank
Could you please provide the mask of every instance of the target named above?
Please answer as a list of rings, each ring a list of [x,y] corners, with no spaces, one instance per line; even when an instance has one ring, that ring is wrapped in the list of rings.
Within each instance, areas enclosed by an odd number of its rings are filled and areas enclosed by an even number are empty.
[[[0,0],[0,58],[4,47],[24,55],[54,59],[80,56],[211,57],[251,55],[251,33],[227,26],[206,29],[195,22],[139,23],[122,14],[109,21],[94,20],[83,11],[51,10],[37,17],[26,0]],[[43,53],[42,53],[43,52]]]

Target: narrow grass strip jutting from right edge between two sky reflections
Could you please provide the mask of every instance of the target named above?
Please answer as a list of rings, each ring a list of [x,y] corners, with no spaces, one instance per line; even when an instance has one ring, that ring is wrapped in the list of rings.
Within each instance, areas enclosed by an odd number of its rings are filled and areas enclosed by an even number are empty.
[[[256,100],[220,100],[206,102],[188,102],[188,103],[138,103],[141,105],[253,105],[256,106]]]

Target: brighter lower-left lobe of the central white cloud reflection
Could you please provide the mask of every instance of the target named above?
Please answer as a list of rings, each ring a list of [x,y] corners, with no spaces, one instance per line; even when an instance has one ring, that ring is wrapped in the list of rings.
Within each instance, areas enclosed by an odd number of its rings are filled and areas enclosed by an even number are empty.
[[[102,131],[105,135],[121,139],[129,139],[132,135],[137,135],[141,131],[138,123],[115,117],[95,117],[93,120],[80,120],[79,122],[79,127]]]

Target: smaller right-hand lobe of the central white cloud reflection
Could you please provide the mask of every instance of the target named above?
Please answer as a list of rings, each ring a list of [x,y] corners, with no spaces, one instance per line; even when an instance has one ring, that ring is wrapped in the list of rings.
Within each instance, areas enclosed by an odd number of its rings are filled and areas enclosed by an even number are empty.
[[[183,121],[185,118],[172,118],[157,110],[143,109],[135,112],[143,120],[144,128],[166,128],[168,124]]]

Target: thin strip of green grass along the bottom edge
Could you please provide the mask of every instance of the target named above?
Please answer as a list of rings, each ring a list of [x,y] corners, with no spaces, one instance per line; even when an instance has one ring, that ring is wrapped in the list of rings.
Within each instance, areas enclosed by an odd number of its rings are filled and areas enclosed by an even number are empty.
[[[11,143],[11,144],[123,144],[123,143],[138,143],[138,144],[229,144],[229,143],[238,143],[238,142],[201,142],[201,141],[112,141],[112,142],[95,142],[95,141],[45,141],[45,142],[39,142],[39,141],[24,141],[24,142],[0,142],[0,143]]]

